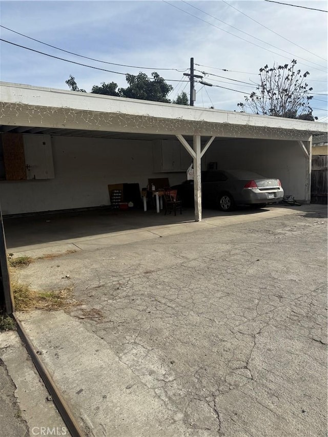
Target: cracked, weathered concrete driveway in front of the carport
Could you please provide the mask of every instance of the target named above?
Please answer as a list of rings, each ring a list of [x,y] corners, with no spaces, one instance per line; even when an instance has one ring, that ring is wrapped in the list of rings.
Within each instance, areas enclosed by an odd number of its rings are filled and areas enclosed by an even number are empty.
[[[20,318],[86,435],[327,435],[326,208],[264,217],[18,270],[81,301]]]

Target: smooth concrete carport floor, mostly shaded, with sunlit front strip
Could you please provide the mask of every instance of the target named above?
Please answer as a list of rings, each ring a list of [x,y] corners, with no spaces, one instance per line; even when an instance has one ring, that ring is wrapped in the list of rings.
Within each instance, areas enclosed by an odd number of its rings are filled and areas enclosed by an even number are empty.
[[[261,210],[244,207],[228,214],[204,210],[203,221],[196,223],[190,209],[177,216],[154,211],[85,211],[7,218],[5,233],[8,253],[39,258],[295,213],[297,208],[281,205]]]

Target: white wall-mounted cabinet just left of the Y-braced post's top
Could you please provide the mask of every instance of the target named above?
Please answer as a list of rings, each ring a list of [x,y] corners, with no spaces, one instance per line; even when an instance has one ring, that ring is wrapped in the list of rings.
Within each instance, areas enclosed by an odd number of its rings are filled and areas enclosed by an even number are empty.
[[[153,142],[154,172],[186,172],[192,157],[180,143],[175,140],[155,140]]]

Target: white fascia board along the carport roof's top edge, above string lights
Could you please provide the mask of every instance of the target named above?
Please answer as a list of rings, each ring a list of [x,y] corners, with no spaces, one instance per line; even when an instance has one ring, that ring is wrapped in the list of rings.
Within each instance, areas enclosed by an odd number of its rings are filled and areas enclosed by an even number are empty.
[[[52,88],[39,88],[29,85],[11,84],[9,82],[0,82],[0,101],[36,107],[67,108],[73,111],[124,114],[132,117],[151,117],[155,120],[167,120],[168,122],[172,120],[173,123],[180,120],[182,122],[181,124],[185,124],[186,122],[194,123],[196,130],[197,122],[202,124],[206,123],[208,125],[208,129],[206,129],[208,135],[213,135],[215,125],[218,126],[222,124],[228,124],[230,127],[244,126],[262,128],[263,130],[268,129],[269,131],[280,130],[281,132],[284,130],[310,134],[327,132],[326,123],[315,121],[185,107],[172,105],[171,103],[103,96]],[[175,127],[172,134],[187,134],[187,132],[179,132],[178,130],[179,128]],[[203,126],[201,130],[202,135],[207,135],[207,132],[203,130]],[[238,136],[238,134],[236,136]]]

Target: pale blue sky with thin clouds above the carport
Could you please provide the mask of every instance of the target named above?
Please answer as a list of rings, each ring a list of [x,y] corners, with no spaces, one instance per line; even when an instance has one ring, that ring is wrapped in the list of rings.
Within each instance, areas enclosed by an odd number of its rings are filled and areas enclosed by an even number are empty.
[[[272,66],[275,62],[289,63],[292,58],[298,60],[298,67],[302,72],[310,72],[308,83],[313,87],[313,91],[319,94],[327,93],[327,63],[322,59],[326,58],[327,54],[327,14],[264,0],[227,0],[231,6],[295,43],[292,44],[220,0],[186,1],[189,4],[168,0],[169,3],[198,18],[161,0],[1,2],[2,26],[74,53],[116,64],[149,67],[150,70],[101,64],[79,58],[3,28],[1,37],[34,50],[115,72],[137,74],[144,71],[150,75],[152,71],[158,71],[166,79],[177,80],[170,82],[175,87],[170,98],[174,98],[182,89],[189,91],[187,79],[183,78],[182,72],[159,68],[187,69],[190,57],[193,56],[195,63],[208,66],[196,68],[228,78],[208,75],[204,80],[242,91],[239,93],[224,88],[205,88],[196,84],[195,105],[205,108],[213,103],[217,109],[237,110],[237,103],[243,101],[243,93],[255,89],[255,85],[252,84],[257,80],[260,67],[265,64]],[[325,1],[284,0],[284,3],[326,9]],[[204,23],[200,18],[212,25]],[[224,30],[261,47],[256,47]],[[265,43],[270,43],[276,48]],[[120,87],[126,86],[124,75],[69,64],[3,42],[0,49],[0,73],[3,81],[67,89],[65,80],[71,74],[75,76],[78,86],[87,91],[102,81],[115,81]],[[284,53],[281,49],[291,54]],[[230,71],[224,72],[215,68]],[[182,78],[185,82],[180,81]],[[325,121],[327,118],[323,117],[328,115],[324,111],[327,109],[326,96],[314,97],[317,100],[313,100],[312,106],[318,108],[314,109],[314,115]]]

